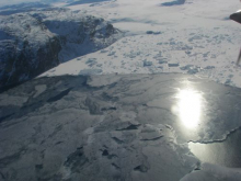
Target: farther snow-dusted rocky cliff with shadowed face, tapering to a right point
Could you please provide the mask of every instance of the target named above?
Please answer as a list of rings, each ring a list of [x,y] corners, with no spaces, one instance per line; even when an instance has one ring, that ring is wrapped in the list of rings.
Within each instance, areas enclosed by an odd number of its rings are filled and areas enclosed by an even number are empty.
[[[101,18],[85,15],[82,11],[48,9],[31,14],[59,37],[62,47],[60,63],[105,48],[122,37],[112,24]]]

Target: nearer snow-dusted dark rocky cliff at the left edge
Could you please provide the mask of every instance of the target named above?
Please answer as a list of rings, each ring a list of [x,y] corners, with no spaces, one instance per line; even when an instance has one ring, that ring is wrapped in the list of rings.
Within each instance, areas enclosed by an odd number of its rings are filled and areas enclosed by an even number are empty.
[[[0,87],[27,80],[59,64],[59,39],[30,14],[0,18]]]

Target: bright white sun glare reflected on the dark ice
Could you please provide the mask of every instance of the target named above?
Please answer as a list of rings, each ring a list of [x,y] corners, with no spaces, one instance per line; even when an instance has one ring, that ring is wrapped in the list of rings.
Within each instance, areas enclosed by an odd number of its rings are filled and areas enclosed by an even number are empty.
[[[177,111],[182,123],[187,128],[195,128],[200,121],[200,93],[186,89],[181,90],[176,98],[179,99]]]

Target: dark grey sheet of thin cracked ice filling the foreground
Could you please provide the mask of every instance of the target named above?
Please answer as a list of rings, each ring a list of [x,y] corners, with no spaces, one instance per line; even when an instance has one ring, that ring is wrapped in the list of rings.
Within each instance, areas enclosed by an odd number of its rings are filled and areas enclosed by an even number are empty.
[[[241,168],[240,98],[179,73],[34,79],[0,94],[0,181],[234,181],[210,170]]]

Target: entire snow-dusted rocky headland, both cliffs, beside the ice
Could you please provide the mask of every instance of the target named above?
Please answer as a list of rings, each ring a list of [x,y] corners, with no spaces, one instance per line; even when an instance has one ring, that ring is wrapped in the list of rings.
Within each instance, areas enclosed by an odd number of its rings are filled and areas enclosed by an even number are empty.
[[[33,78],[101,48],[120,33],[103,19],[66,9],[0,18],[0,87]]]

